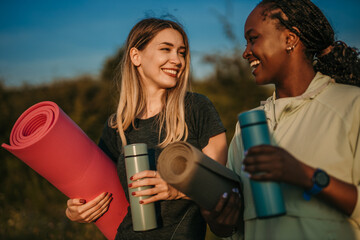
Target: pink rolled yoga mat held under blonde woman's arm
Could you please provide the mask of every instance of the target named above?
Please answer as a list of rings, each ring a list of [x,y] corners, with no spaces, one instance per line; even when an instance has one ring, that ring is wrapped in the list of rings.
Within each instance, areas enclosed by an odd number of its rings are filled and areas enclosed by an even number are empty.
[[[69,198],[93,199],[112,193],[109,210],[95,225],[108,239],[129,206],[113,161],[54,102],[40,102],[16,121],[10,145],[3,148],[21,159]]]

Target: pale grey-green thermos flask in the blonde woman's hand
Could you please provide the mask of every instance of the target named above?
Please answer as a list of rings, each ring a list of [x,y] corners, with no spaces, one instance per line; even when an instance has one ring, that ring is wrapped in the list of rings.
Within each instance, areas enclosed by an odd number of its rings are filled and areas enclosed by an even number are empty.
[[[147,145],[145,143],[136,143],[124,146],[125,167],[128,184],[133,181],[130,177],[135,173],[149,170],[149,157]],[[149,189],[150,186],[129,188],[130,209],[134,231],[146,231],[157,228],[156,213],[154,203],[140,204],[139,201],[150,196],[136,197],[132,192]]]

